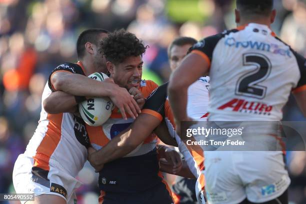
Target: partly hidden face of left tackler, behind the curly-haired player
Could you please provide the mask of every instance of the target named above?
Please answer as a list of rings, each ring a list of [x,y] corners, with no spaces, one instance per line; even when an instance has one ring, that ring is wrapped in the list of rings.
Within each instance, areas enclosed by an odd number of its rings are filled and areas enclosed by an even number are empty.
[[[104,38],[107,37],[107,33],[101,33],[98,38],[98,44],[93,45],[94,49],[94,54],[93,54],[93,63],[94,63],[94,68],[95,72],[103,72],[107,73],[107,67],[106,67],[106,59],[105,57],[99,52],[100,48],[100,41]]]

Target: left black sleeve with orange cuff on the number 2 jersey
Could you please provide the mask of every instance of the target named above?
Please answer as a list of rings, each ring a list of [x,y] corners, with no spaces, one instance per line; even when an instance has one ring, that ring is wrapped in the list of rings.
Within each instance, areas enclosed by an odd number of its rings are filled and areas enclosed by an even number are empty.
[[[193,46],[190,47],[188,52],[200,55],[208,63],[208,67],[210,67],[213,50],[218,41],[222,38],[222,36],[223,34],[219,33],[206,37],[193,44]]]

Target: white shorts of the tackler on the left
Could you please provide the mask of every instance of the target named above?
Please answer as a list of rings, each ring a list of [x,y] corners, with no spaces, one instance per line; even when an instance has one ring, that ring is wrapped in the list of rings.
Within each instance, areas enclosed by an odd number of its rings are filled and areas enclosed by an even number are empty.
[[[24,154],[20,154],[15,161],[12,180],[16,193],[34,193],[34,196],[53,194],[64,198],[68,204],[75,203],[74,190],[81,183],[52,159],[49,161],[49,171],[32,171],[34,161]],[[22,204],[24,202],[21,201]]]

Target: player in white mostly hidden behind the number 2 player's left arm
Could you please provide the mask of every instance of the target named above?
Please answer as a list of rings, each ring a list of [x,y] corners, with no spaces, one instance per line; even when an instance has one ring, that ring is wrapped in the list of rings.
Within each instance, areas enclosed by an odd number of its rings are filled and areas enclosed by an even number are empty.
[[[174,71],[186,55],[188,49],[197,42],[192,37],[178,37],[168,47],[168,59],[171,71]],[[200,77],[188,88],[187,115],[195,120],[206,119],[208,107],[209,77]],[[200,96],[199,96],[200,95]],[[196,179],[176,177],[172,185],[175,204],[197,203],[195,194]]]

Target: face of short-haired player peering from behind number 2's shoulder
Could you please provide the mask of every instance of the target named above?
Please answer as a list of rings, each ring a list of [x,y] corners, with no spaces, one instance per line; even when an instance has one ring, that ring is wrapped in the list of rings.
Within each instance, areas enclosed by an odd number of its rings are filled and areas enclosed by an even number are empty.
[[[178,65],[186,55],[190,46],[192,46],[192,44],[184,44],[182,46],[178,45],[172,46],[169,58],[171,71],[174,71],[174,69],[178,67]]]

